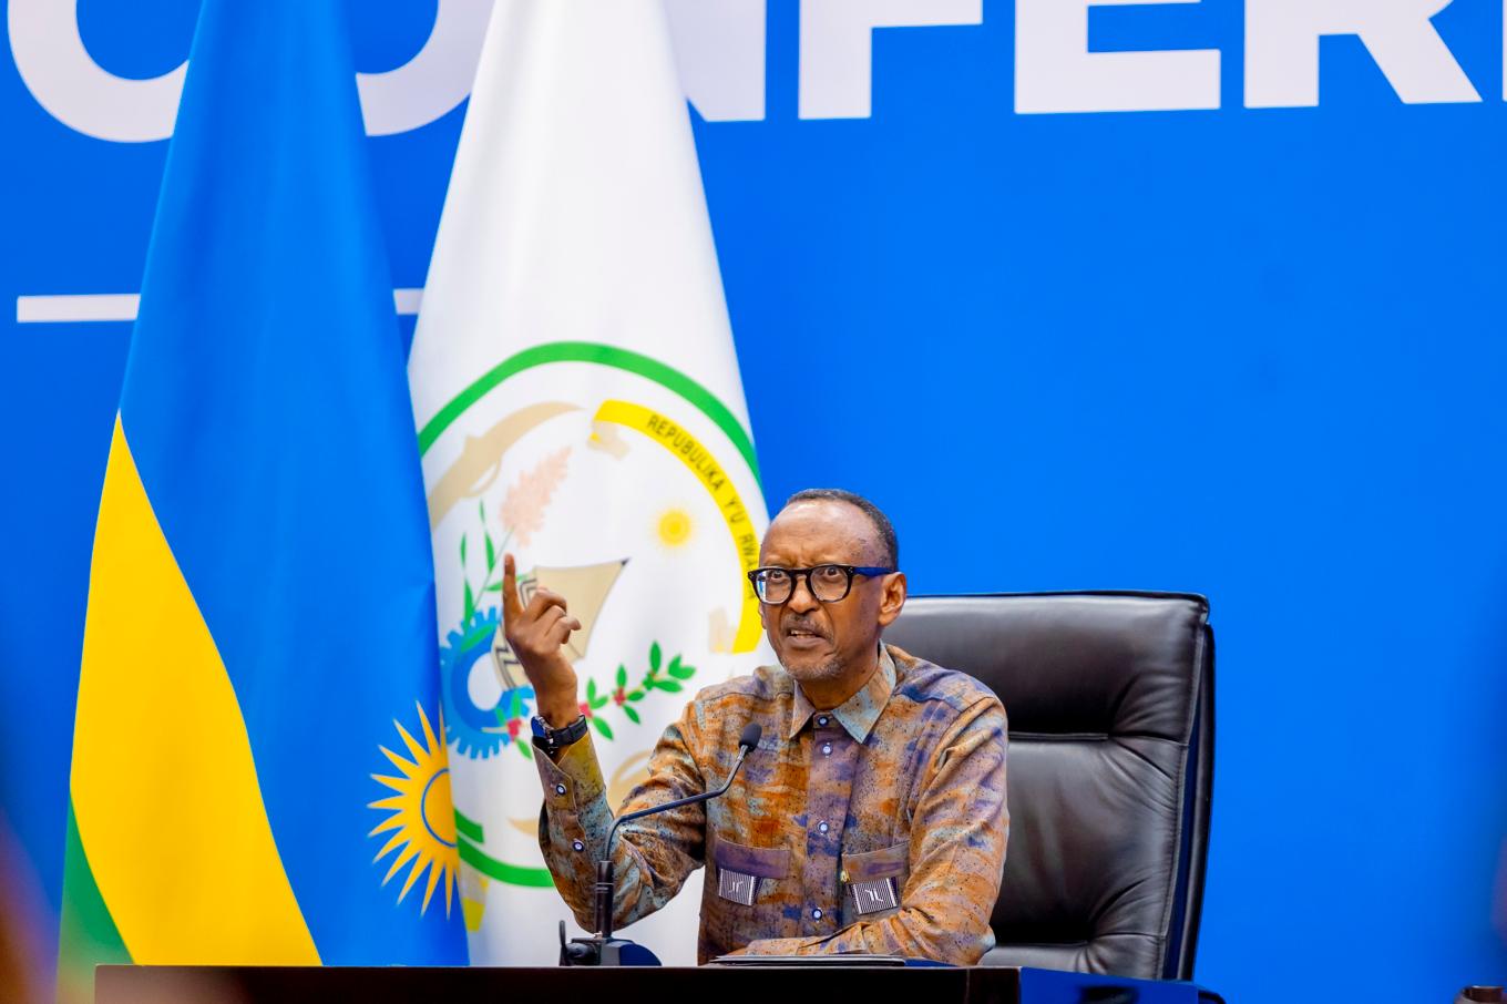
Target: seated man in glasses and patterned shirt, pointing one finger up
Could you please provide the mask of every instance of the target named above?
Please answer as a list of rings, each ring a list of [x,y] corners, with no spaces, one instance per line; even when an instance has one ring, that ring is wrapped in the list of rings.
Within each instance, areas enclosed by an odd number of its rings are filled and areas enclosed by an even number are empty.
[[[815,488],[775,517],[749,574],[778,666],[707,687],[665,730],[622,811],[732,790],[618,829],[615,924],[657,911],[707,865],[698,956],[877,953],[971,965],[993,944],[1010,820],[1005,710],[987,687],[880,642],[906,601],[889,520]],[[512,556],[503,618],[533,686],[540,846],[592,924],[612,808],[561,645],[580,624],[547,589],[524,606]]]

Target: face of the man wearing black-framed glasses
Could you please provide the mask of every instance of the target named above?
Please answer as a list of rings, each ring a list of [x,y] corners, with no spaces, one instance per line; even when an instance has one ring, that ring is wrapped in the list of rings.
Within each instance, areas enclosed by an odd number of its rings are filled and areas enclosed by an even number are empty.
[[[760,564],[811,568],[821,564],[885,565],[888,561],[862,510],[823,499],[797,502],[775,517],[764,535]],[[835,603],[811,595],[811,583],[800,576],[790,600],[779,606],[760,605],[760,618],[769,644],[791,677],[811,683],[839,681],[848,674],[867,674],[874,665],[880,629],[900,615],[904,600],[904,576],[898,573],[854,576],[853,588]]]

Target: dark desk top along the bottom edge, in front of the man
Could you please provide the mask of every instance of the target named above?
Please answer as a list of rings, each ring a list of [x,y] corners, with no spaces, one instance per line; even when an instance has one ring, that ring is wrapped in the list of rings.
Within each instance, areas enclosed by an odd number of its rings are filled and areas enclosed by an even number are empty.
[[[407,968],[99,966],[98,1004],[1198,1004],[1192,983],[1151,983],[1017,966],[948,968]]]

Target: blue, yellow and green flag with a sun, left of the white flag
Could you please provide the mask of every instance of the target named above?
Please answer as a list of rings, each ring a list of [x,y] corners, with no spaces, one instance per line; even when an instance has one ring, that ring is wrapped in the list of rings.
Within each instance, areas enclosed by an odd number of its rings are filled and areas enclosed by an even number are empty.
[[[60,989],[458,963],[434,571],[344,3],[205,0],[95,534]]]

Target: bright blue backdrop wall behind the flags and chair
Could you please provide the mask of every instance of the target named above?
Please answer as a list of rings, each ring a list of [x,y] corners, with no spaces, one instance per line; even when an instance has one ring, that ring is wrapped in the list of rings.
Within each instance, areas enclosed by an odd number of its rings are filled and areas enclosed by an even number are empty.
[[[437,17],[479,2],[360,5],[359,68],[407,65]],[[1429,8],[1403,32],[1415,45],[1314,42],[1307,107],[1307,50],[1260,21],[1293,35],[1293,5],[1094,8],[1094,53],[1218,50],[1218,66],[1172,74],[1169,110],[1026,113],[1041,93],[1071,104],[1016,56],[1017,30],[1028,54],[1056,44],[1043,0],[989,0],[981,18],[888,0],[901,23],[980,23],[876,30],[871,72],[821,45],[854,38],[842,18],[865,3],[806,0],[805,30],[797,0],[677,21],[681,41],[729,47],[690,90],[772,505],[812,484],[873,496],[919,592],[1210,597],[1201,981],[1319,999],[1326,975],[1359,974],[1374,999],[1423,1001],[1502,980],[1501,5],[1456,0],[1432,29],[1439,0],[1371,5]],[[166,143],[75,128],[18,69],[18,18],[66,6],[9,6],[0,305],[140,286]],[[78,38],[115,77],[149,80],[185,57],[196,6],[81,0]],[[735,38],[716,17],[743,18]],[[423,283],[463,115],[369,139],[398,286]],[[21,314],[0,317],[0,794],[56,911],[130,324]],[[812,418],[811,395],[844,398],[841,418]]]

